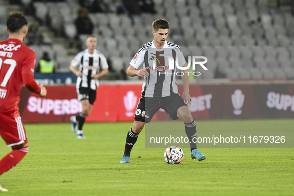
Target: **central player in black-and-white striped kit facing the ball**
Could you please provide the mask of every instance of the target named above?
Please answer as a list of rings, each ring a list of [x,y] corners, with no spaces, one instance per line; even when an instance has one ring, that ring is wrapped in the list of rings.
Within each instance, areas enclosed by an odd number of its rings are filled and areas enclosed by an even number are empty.
[[[135,121],[126,137],[124,155],[120,163],[129,163],[130,153],[139,133],[160,108],[163,108],[173,120],[180,118],[185,123],[192,159],[202,161],[206,158],[196,149],[196,143],[193,141],[196,138],[196,124],[188,107],[192,101],[189,95],[189,73],[184,72],[182,76],[184,93],[181,98],[175,80],[176,68],[169,69],[169,60],[165,58],[173,57],[174,60],[178,59],[180,67],[187,66],[179,45],[166,40],[168,32],[167,20],[155,20],[152,23],[153,41],[138,50],[127,69],[127,75],[145,78],[145,83],[136,109]],[[143,63],[143,69],[136,70],[141,63]]]

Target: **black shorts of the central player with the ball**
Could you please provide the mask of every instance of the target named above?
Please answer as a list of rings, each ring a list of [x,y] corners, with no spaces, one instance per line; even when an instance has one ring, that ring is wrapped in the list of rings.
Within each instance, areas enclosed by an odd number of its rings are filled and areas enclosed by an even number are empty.
[[[136,109],[135,120],[148,123],[160,108],[164,109],[173,120],[177,120],[178,109],[182,106],[187,104],[179,94],[163,98],[145,98],[143,92]]]

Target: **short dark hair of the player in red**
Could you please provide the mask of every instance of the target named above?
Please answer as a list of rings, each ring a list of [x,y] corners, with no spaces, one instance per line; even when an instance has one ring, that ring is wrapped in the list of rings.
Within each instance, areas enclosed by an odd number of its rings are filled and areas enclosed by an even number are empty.
[[[15,11],[7,16],[6,25],[10,33],[15,33],[27,25],[27,20],[22,13]]]

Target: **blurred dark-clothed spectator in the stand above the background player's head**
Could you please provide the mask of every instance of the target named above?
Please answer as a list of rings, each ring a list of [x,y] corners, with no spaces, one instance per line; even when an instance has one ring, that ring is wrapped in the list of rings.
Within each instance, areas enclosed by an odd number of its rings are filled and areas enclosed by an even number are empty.
[[[92,34],[93,23],[88,17],[89,10],[87,8],[80,8],[78,10],[78,18],[75,20],[78,34]]]

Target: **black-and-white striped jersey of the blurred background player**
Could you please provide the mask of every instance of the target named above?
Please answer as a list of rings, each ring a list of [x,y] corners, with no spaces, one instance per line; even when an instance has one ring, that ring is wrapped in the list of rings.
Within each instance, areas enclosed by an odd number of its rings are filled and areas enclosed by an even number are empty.
[[[72,60],[71,65],[74,67],[79,66],[82,70],[82,77],[77,79],[77,89],[80,87],[96,90],[99,84],[97,79],[91,79],[91,76],[99,73],[99,68],[107,69],[108,64],[104,55],[95,49],[93,54],[88,52],[88,49],[79,52]]]

